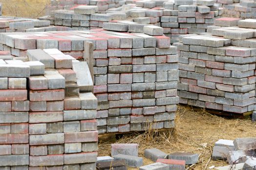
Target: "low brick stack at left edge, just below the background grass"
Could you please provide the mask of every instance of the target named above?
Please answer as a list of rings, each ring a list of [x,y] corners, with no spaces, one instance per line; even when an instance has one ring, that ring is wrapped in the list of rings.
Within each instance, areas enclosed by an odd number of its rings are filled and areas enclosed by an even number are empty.
[[[0,33],[68,31],[69,27],[50,26],[49,20],[20,17],[0,17]]]

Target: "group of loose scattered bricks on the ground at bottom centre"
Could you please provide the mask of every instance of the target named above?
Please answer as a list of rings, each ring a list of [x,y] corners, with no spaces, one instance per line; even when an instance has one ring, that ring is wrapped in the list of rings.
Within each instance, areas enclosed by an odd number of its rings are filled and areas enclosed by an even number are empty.
[[[111,156],[97,158],[97,169],[108,170],[111,168],[127,170],[127,167],[139,168],[139,170],[185,170],[186,164],[192,165],[198,162],[198,154],[171,153],[168,155],[156,148],[146,149],[144,156],[153,164],[144,165],[142,157],[138,157],[138,144],[111,144]]]

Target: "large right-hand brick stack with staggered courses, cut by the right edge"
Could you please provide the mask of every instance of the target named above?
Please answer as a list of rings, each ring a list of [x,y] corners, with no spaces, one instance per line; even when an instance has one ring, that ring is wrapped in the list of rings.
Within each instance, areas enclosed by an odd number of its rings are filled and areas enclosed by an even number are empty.
[[[219,18],[217,26],[230,27],[173,44],[179,53],[180,103],[240,115],[255,110],[256,20],[238,20]]]

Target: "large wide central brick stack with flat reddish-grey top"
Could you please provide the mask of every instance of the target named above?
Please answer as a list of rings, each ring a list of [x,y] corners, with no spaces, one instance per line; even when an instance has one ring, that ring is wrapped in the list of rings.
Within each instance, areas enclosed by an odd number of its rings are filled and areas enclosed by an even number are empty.
[[[109,26],[116,29],[116,23]],[[23,50],[47,47],[73,53],[76,47],[84,51],[84,41],[92,42],[99,133],[144,130],[150,121],[157,122],[156,128],[173,127],[178,103],[176,47],[170,47],[161,27],[144,29],[145,34],[91,30],[0,36],[4,47],[28,44]]]

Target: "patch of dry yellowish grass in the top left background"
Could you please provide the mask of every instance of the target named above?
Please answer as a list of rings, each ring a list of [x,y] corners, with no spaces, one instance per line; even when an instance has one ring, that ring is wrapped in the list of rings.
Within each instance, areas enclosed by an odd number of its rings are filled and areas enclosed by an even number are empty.
[[[2,2],[2,15],[14,17],[44,16],[50,0],[0,0]]]

